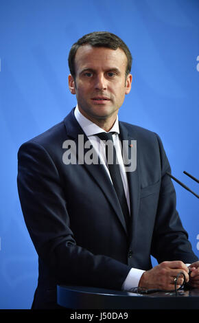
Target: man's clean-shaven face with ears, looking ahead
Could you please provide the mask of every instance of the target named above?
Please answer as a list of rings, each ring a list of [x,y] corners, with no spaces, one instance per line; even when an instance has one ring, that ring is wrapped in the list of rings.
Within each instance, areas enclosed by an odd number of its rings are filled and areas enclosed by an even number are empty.
[[[126,78],[126,54],[120,48],[83,45],[75,55],[75,80],[69,89],[76,94],[80,112],[89,120],[114,120],[130,92],[132,76]]]

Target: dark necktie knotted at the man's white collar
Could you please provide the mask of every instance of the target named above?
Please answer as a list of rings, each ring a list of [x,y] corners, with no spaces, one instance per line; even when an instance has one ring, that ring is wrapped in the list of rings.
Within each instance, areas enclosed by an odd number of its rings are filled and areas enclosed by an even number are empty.
[[[112,133],[97,133],[97,137],[101,140],[104,140],[104,144],[106,145],[106,161],[108,164],[108,170],[110,172],[110,177],[113,181],[113,186],[115,188],[115,192],[119,199],[119,203],[121,205],[121,210],[124,214],[124,219],[126,221],[126,227],[129,228],[130,214],[128,210],[128,204],[126,201],[126,195],[124,192],[124,186],[121,179],[121,173],[119,170],[119,164],[117,161],[117,154],[115,150],[115,146],[113,144],[113,136]],[[110,162],[109,162],[110,161]]]

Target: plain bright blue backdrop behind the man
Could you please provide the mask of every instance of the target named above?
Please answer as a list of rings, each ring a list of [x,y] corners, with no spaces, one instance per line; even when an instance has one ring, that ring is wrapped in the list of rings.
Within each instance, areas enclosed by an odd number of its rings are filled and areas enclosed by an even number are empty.
[[[159,133],[173,175],[198,192],[183,175],[187,170],[199,177],[198,0],[0,0],[1,309],[30,308],[37,280],[16,188],[17,151],[75,106],[67,87],[69,49],[97,30],[120,36],[134,58],[120,120]],[[198,199],[174,186],[199,256]]]

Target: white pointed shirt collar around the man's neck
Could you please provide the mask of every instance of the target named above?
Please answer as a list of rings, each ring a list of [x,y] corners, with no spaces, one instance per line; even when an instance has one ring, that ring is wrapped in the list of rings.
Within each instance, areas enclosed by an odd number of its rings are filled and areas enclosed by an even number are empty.
[[[91,120],[87,119],[86,117],[84,117],[84,115],[82,115],[82,113],[80,113],[80,110],[78,109],[78,104],[75,107],[74,114],[75,114],[76,120],[82,127],[87,137],[91,135],[96,135],[96,133],[102,133],[102,132],[104,133],[104,129],[100,128],[100,126],[97,126],[97,124],[94,124]],[[115,124],[113,124],[113,127],[110,129],[110,131],[113,131],[119,134],[118,116],[117,116],[117,119],[115,120]]]

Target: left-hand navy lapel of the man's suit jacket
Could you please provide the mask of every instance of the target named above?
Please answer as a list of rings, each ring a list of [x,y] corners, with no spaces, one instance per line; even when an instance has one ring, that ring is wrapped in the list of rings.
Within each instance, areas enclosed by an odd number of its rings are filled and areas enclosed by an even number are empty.
[[[71,111],[71,113],[69,113],[69,115],[67,115],[64,122],[65,122],[65,126],[67,129],[67,135],[69,137],[73,138],[73,140],[75,141],[75,144],[77,147],[76,148],[77,161],[81,160],[81,162],[83,164],[82,166],[84,166],[84,168],[86,168],[86,170],[93,177],[94,181],[100,186],[100,188],[102,189],[102,191],[106,195],[106,198],[108,199],[110,205],[112,205],[113,210],[117,214],[117,217],[127,234],[126,223],[124,220],[124,215],[122,214],[122,211],[121,211],[120,203],[117,199],[117,195],[116,195],[115,190],[113,188],[113,184],[111,183],[110,178],[108,177],[108,174],[107,174],[104,166],[102,164],[86,164],[83,160],[85,154],[88,153],[88,151],[92,148],[92,146],[89,146],[89,148],[84,147],[83,158],[82,157],[80,158],[80,156],[78,155],[78,151],[82,151],[82,147],[79,147],[80,136],[78,137],[78,135],[82,135],[81,136],[81,145],[85,144],[85,142],[87,142],[89,139],[88,139],[88,137],[86,137],[84,131],[80,127],[80,124],[78,124],[77,120],[75,119],[74,109]],[[94,149],[93,149],[93,154],[95,154],[96,158],[97,158],[97,154],[95,153]]]

